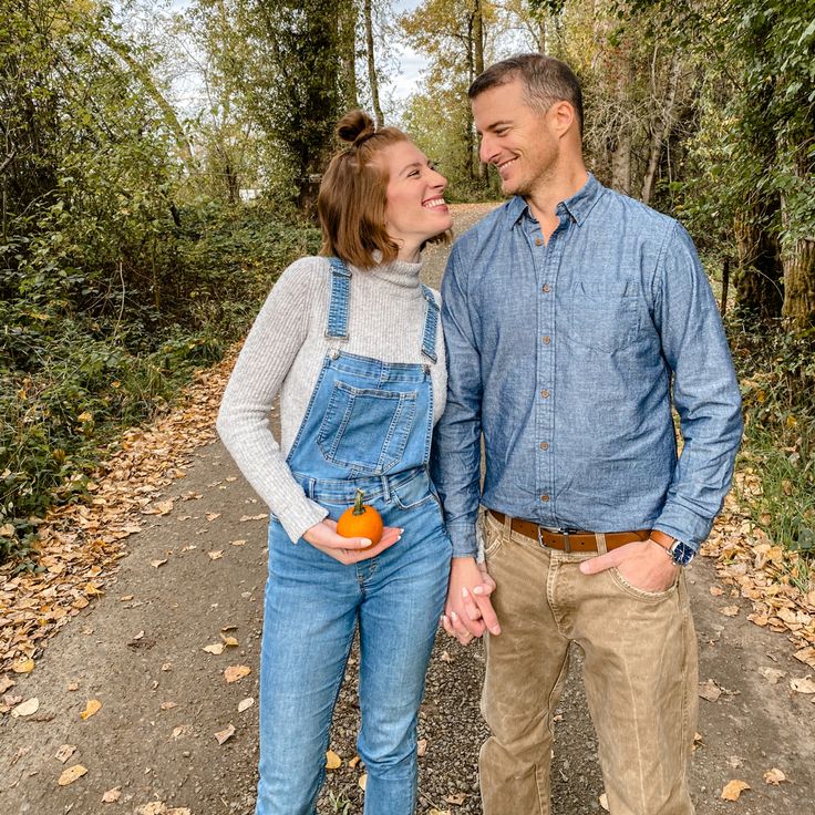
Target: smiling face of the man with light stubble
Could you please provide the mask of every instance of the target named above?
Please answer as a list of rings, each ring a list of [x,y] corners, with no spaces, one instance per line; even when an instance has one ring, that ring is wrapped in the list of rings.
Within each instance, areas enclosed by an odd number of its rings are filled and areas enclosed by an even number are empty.
[[[548,111],[529,107],[520,80],[476,96],[473,117],[481,134],[481,159],[497,167],[504,195],[530,196],[551,176],[559,143]]]

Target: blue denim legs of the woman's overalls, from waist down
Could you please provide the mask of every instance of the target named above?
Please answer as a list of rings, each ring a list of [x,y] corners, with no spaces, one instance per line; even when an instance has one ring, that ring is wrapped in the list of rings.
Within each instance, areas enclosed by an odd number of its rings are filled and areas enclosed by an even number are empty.
[[[343,566],[305,540],[292,544],[276,520],[270,525],[257,815],[316,813],[331,716],[358,625],[364,814],[414,812],[416,720],[451,544],[426,478],[370,503],[385,525],[404,533],[357,566]],[[334,515],[343,507],[329,508]]]

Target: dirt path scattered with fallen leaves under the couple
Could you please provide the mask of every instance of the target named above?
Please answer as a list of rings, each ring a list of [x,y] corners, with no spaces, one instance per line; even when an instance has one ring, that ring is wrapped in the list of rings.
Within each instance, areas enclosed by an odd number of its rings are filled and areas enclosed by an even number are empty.
[[[456,207],[457,230],[484,212],[478,205]],[[435,247],[429,254],[432,285],[445,255]],[[252,812],[258,709],[256,702],[244,706],[258,697],[266,510],[218,443],[196,452],[167,497],[176,498],[175,508],[131,538],[130,555],[105,596],[50,642],[35,671],[17,678],[14,692],[38,698],[40,708],[28,718],[0,719],[3,815]],[[792,659],[783,636],[746,621],[745,601],[711,594],[715,577],[709,563],[694,564],[689,577],[701,679],[721,690],[718,701],[700,700],[692,770],[698,814],[813,815],[815,706],[813,697],[788,685],[805,675],[804,667]],[[741,611],[725,617],[724,606]],[[225,638],[237,644],[221,653],[204,650],[225,644]],[[235,666],[250,672],[227,682],[225,670]],[[576,659],[557,723],[555,815],[601,812],[602,782],[578,669]],[[466,650],[440,636],[421,720],[423,815],[481,812],[475,762],[485,734],[482,673],[479,647]],[[331,740],[342,766],[329,773],[321,814],[362,812],[363,768],[349,765],[358,711],[353,682],[347,685]],[[83,721],[80,713],[92,699],[102,708]],[[234,735],[219,744],[215,734],[229,728]],[[75,747],[64,764],[54,757],[63,745]],[[58,785],[61,773],[78,764],[86,774]],[[787,781],[765,783],[773,767]],[[734,778],[751,790],[737,803],[722,801],[723,786]],[[117,801],[103,803],[113,790]],[[507,815],[514,815],[510,805]]]

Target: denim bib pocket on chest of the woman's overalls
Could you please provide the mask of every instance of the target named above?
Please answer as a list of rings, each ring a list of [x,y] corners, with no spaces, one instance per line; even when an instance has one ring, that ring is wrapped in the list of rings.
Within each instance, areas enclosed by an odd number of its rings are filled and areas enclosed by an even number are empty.
[[[336,382],[317,444],[326,461],[382,475],[404,455],[417,391],[379,391]]]

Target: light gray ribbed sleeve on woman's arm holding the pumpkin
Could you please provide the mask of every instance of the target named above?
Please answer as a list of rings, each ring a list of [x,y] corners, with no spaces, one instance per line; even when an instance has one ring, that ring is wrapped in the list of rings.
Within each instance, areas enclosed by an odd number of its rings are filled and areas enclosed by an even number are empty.
[[[291,474],[269,411],[306,340],[310,299],[322,278],[314,262],[296,261],[274,286],[235,363],[216,423],[240,472],[293,541],[328,510],[309,499]]]

